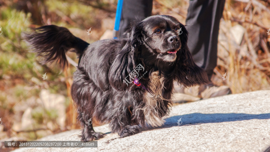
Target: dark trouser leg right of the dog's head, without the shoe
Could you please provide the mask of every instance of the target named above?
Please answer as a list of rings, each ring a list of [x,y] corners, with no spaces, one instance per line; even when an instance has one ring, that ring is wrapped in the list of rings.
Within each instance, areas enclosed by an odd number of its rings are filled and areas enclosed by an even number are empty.
[[[187,11],[187,45],[209,80],[217,66],[217,37],[224,4],[225,0],[190,0]]]

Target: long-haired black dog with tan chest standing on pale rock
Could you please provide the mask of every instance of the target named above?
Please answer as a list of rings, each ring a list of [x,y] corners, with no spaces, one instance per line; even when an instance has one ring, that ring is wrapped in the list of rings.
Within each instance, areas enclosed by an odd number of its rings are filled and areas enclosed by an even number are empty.
[[[126,35],[88,44],[55,25],[25,35],[34,51],[45,57],[44,63],[58,60],[64,67],[70,49],[79,56],[71,95],[84,128],[83,141],[104,136],[88,125],[92,117],[110,122],[120,137],[133,135],[140,127],[161,126],[162,117],[169,114],[174,81],[185,87],[208,83],[188,50],[187,30],[176,18],[148,17]]]

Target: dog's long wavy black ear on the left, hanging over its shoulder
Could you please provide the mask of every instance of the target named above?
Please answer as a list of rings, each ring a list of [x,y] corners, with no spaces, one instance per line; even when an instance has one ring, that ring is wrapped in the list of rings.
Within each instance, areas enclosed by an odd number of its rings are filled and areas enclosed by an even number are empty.
[[[118,50],[109,71],[109,83],[118,91],[126,89],[133,82],[128,74],[136,67],[137,51],[142,38],[140,23],[128,31],[128,41],[122,50]]]

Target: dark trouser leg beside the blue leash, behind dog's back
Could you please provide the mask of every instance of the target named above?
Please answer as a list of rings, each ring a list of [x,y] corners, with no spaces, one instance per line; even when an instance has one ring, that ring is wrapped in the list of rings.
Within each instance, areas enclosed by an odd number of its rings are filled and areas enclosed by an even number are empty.
[[[122,38],[133,21],[141,21],[151,16],[153,0],[124,0],[119,27],[119,38]]]

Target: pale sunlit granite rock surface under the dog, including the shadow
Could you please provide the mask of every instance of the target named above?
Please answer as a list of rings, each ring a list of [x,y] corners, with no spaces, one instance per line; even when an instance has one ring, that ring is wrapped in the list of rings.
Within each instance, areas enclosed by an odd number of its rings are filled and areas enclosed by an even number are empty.
[[[166,123],[119,138],[108,125],[95,127],[106,133],[98,148],[19,148],[24,151],[250,151],[270,146],[270,90],[233,94],[172,107]],[[181,121],[178,120],[181,118]],[[71,130],[39,140],[77,141],[80,130]]]

